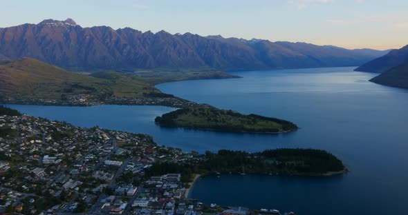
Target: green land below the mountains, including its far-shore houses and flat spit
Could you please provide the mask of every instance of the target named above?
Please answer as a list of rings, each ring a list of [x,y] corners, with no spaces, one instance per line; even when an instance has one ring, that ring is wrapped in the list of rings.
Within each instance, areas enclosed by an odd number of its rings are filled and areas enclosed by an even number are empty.
[[[69,72],[35,59],[0,61],[0,101],[48,105],[169,105],[192,102],[165,94],[157,83],[238,78],[225,72]]]

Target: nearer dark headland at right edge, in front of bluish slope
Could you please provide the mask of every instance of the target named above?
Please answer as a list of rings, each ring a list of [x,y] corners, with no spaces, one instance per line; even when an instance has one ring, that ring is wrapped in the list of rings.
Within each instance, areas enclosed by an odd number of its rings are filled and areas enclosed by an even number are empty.
[[[396,88],[408,88],[408,61],[375,76],[370,81]]]

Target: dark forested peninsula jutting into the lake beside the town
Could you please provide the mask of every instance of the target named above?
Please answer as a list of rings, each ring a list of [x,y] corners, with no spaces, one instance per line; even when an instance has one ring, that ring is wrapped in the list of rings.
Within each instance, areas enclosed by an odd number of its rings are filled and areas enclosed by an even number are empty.
[[[276,149],[248,153],[220,150],[206,152],[195,164],[154,163],[147,176],[170,172],[191,174],[245,173],[245,174],[296,174],[305,176],[331,175],[347,172],[342,161],[324,150]]]

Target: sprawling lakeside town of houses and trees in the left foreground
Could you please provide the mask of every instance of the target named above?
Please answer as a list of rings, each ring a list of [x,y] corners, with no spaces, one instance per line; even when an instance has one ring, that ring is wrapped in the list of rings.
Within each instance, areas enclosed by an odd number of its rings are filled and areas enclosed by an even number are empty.
[[[0,116],[0,130],[0,214],[280,214],[188,198],[197,176],[151,175],[149,169],[156,162],[194,164],[203,156],[160,147],[145,134],[25,114]]]

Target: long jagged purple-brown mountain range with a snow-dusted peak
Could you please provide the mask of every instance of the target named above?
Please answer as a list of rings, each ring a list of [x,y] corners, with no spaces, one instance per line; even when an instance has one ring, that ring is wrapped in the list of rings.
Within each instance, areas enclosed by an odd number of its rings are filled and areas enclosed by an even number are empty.
[[[266,70],[362,65],[386,54],[331,45],[156,34],[72,19],[0,28],[0,59],[30,57],[68,70]]]

